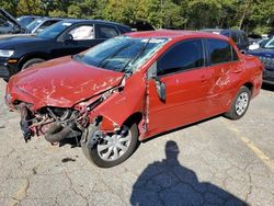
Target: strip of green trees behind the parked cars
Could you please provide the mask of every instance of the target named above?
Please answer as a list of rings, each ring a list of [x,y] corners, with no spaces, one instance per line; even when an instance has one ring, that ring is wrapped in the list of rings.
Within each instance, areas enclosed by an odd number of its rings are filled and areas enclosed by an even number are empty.
[[[145,21],[155,28],[233,27],[274,33],[274,0],[0,0],[15,16],[103,19],[124,24]]]

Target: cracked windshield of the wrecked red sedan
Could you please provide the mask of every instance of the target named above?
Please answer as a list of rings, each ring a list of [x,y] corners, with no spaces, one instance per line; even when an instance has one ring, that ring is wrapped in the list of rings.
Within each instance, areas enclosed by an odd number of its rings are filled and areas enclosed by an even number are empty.
[[[90,66],[133,73],[167,42],[168,38],[118,36],[91,48],[82,55],[73,56],[73,58]]]

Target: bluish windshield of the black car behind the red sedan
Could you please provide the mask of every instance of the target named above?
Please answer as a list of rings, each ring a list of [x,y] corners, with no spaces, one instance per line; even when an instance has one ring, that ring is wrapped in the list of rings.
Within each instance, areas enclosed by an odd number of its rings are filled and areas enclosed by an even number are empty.
[[[42,37],[42,38],[55,38],[71,24],[72,24],[71,22],[62,22],[62,21],[58,22],[56,24],[53,24],[52,26],[46,27],[36,36]]]

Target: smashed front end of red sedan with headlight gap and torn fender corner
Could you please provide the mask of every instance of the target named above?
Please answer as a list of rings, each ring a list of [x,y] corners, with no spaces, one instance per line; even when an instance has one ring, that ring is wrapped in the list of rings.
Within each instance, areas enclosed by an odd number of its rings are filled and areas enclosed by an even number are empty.
[[[82,134],[91,124],[101,125],[104,131],[115,130],[118,125],[93,113],[93,110],[121,90],[121,87],[111,89],[76,104],[72,108],[46,106],[34,111],[32,104],[16,102],[13,110],[21,114],[20,126],[26,142],[34,136],[44,136],[50,144],[56,144],[66,138],[84,138]]]

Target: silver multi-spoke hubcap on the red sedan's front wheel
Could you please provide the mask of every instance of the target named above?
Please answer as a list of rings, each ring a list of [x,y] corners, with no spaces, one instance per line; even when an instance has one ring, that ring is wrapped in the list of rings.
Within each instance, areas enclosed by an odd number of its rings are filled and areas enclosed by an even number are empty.
[[[98,154],[105,161],[117,160],[128,150],[130,140],[132,134],[129,128],[123,126],[121,130],[100,138]]]

